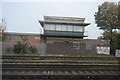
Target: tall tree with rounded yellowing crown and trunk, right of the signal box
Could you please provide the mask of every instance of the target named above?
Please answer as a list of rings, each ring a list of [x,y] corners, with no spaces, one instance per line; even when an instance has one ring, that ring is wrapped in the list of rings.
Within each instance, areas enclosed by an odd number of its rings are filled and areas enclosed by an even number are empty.
[[[113,29],[119,29],[120,22],[118,19],[118,5],[114,2],[104,2],[98,6],[98,12],[95,13],[95,23],[97,27],[100,27],[105,33],[109,34],[108,40],[110,40],[110,52],[114,53],[113,44]]]

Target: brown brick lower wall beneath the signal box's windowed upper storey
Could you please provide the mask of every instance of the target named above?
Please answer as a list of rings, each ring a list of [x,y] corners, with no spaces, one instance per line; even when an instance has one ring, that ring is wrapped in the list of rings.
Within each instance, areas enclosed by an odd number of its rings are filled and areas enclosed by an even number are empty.
[[[109,41],[48,38],[46,54],[97,54],[97,46],[109,46]]]

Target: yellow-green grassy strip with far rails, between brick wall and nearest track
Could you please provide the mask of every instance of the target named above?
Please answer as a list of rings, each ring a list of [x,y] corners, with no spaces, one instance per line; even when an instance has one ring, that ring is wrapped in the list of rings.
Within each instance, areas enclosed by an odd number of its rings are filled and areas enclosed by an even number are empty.
[[[6,57],[6,59],[4,59],[2,64],[119,65],[119,59],[111,55],[85,55],[85,54],[82,54],[82,55],[81,54],[79,55],[52,55],[52,54],[48,55],[46,54],[43,57],[42,55],[38,55],[38,54],[2,54],[2,56],[3,58]],[[54,56],[54,58],[52,58],[51,56]]]

